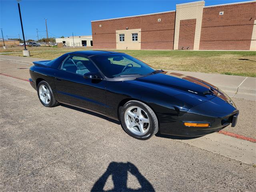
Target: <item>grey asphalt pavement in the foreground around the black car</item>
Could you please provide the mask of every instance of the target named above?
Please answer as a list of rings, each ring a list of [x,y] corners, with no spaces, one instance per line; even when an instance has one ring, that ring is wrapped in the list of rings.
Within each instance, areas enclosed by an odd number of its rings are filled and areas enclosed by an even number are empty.
[[[6,73],[26,79],[28,74],[22,70],[27,69],[17,70],[25,64],[8,64]],[[2,66],[1,61],[1,70]],[[252,164],[169,137],[136,140],[119,122],[86,110],[66,105],[46,108],[24,80],[0,76],[0,92],[1,191],[256,188],[256,167]],[[235,102],[244,112],[237,130],[232,131],[255,138],[255,102]],[[255,154],[255,148],[250,153]]]

